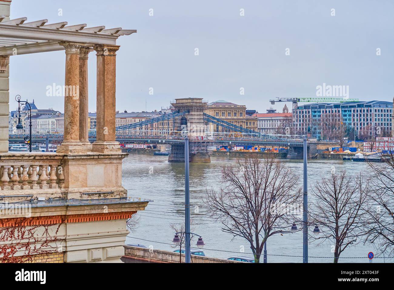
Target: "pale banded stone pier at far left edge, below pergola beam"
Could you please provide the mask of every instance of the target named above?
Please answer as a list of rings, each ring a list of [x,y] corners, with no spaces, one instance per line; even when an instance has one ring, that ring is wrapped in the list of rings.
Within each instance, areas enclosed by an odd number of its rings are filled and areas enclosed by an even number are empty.
[[[9,56],[0,56],[0,152],[8,152]]]

